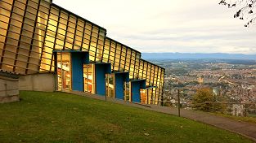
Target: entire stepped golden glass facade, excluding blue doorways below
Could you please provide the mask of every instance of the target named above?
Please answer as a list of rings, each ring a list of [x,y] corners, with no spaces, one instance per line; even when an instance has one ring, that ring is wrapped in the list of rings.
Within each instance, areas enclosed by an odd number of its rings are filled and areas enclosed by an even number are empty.
[[[21,75],[56,72],[53,50],[88,51],[91,63],[146,79],[146,103],[159,104],[164,68],[106,37],[106,29],[45,0],[0,1],[0,70]],[[72,64],[72,63],[71,63]]]

